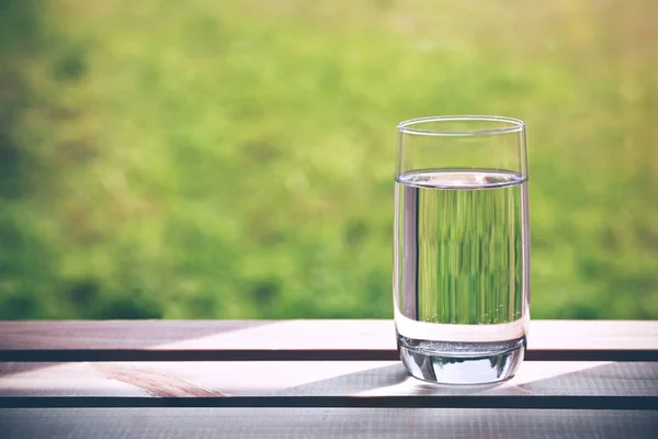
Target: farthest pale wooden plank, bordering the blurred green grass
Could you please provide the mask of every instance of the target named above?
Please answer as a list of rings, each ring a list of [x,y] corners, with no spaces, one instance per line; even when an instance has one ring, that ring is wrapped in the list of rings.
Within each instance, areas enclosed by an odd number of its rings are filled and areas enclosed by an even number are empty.
[[[0,322],[0,349],[396,349],[393,320]],[[530,349],[658,349],[658,320],[532,320]]]

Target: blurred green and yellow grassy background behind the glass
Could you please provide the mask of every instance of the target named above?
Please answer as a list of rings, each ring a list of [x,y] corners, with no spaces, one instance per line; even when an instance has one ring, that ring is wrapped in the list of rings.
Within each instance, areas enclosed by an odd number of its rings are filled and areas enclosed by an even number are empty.
[[[0,0],[0,318],[390,317],[395,125],[464,113],[527,122],[532,316],[658,318],[657,16]]]

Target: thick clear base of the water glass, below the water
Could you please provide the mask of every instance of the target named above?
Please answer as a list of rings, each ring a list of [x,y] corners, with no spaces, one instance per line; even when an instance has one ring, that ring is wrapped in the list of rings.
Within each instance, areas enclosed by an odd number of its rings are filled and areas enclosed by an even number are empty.
[[[398,349],[409,373],[419,380],[486,384],[514,376],[523,361],[525,337],[498,342],[449,342],[398,335]]]

